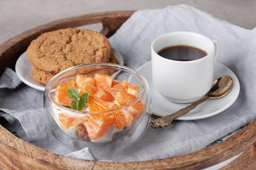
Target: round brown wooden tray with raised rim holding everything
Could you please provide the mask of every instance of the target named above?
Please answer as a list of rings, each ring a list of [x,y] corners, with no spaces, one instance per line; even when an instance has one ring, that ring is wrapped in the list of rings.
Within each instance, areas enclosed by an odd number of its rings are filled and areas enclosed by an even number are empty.
[[[60,28],[102,23],[101,33],[110,37],[134,11],[110,11],[92,13],[57,20],[32,28],[0,45],[0,75],[9,67],[14,70],[18,57],[27,50],[30,42],[41,33]],[[246,150],[225,168],[256,168],[256,118],[243,130],[224,142],[193,153],[139,162],[85,161],[51,153],[16,137],[0,125],[0,169],[202,169],[225,161]]]

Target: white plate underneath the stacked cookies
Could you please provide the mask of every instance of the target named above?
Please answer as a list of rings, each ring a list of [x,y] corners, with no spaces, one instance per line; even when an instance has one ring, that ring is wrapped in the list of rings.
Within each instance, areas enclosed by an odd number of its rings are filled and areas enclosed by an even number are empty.
[[[117,58],[117,61],[120,65],[124,65],[124,59],[120,52],[115,50],[114,48],[111,48],[111,52],[115,55]],[[16,61],[15,70],[20,78],[20,80],[25,83],[26,85],[33,87],[34,89],[38,89],[41,91],[45,90],[45,85],[42,85],[40,83],[37,83],[34,78],[31,75],[31,63],[27,60],[27,52],[24,52],[20,55],[18,60]]]

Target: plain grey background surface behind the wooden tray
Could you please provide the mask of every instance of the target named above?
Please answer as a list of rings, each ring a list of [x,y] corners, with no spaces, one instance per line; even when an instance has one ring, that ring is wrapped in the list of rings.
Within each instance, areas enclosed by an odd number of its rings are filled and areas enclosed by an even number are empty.
[[[240,27],[256,27],[256,0],[0,0],[0,44],[31,28],[87,13],[189,4]]]

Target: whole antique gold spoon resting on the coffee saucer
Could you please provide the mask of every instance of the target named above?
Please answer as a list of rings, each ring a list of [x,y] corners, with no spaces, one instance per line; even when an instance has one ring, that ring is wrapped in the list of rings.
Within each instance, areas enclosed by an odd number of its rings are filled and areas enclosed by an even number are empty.
[[[180,116],[183,116],[186,113],[189,113],[189,111],[191,111],[192,109],[195,109],[195,107],[197,107],[199,104],[201,104],[208,98],[221,98],[225,96],[230,91],[232,84],[233,84],[233,81],[230,76],[222,76],[218,78],[217,80],[213,81],[213,85],[210,91],[206,94],[206,96],[204,96],[200,100],[193,102],[191,105],[184,107],[179,111],[176,111],[173,114],[153,120],[152,121],[153,125],[151,126],[153,128],[158,128],[158,127],[164,128],[166,126],[169,126],[174,119]]]

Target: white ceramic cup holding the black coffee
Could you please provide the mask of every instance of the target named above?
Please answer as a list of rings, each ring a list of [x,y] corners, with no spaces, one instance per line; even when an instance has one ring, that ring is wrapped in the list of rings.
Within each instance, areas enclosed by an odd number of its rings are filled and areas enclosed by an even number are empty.
[[[163,48],[180,45],[199,48],[207,54],[191,61],[166,59],[157,54]],[[215,39],[185,31],[161,35],[151,44],[153,85],[172,102],[199,100],[211,89],[217,56],[218,42]]]

